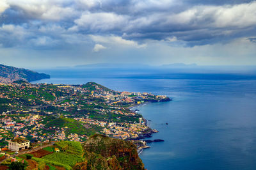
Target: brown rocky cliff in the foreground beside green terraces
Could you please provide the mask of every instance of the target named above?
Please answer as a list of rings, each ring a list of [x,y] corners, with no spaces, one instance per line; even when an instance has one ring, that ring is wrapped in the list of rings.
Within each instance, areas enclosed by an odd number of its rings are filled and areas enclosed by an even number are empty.
[[[136,146],[130,141],[96,134],[84,144],[86,161],[74,169],[144,169]]]

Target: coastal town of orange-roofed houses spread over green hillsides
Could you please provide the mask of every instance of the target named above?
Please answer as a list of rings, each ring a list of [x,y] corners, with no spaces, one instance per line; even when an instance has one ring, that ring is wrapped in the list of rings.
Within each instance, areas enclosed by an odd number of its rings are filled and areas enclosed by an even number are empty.
[[[136,140],[152,130],[141,114],[129,108],[168,100],[151,93],[114,91],[95,82],[0,84],[0,147],[16,138],[31,143],[83,142],[93,134]]]

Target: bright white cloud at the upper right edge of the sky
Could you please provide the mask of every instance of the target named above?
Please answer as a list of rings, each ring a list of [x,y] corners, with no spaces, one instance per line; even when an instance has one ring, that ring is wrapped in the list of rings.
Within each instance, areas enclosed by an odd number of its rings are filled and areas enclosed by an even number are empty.
[[[193,6],[184,12],[166,15],[165,24],[200,27],[248,27],[256,24],[256,2],[225,6]]]

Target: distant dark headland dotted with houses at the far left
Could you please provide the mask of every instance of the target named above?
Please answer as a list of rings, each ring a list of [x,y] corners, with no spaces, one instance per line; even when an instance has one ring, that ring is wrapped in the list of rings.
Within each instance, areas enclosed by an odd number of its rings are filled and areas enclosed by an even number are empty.
[[[41,79],[50,79],[50,75],[45,73],[33,72],[24,68],[0,65],[0,83],[11,83],[13,81],[38,81]]]

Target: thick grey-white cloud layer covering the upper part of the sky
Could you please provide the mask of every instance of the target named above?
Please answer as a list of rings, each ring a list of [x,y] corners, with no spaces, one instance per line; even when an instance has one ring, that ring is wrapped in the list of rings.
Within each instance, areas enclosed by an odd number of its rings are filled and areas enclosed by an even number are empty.
[[[172,38],[193,47],[253,37],[256,26],[255,1],[3,0],[0,12],[4,47],[56,47],[90,35],[139,43]]]

